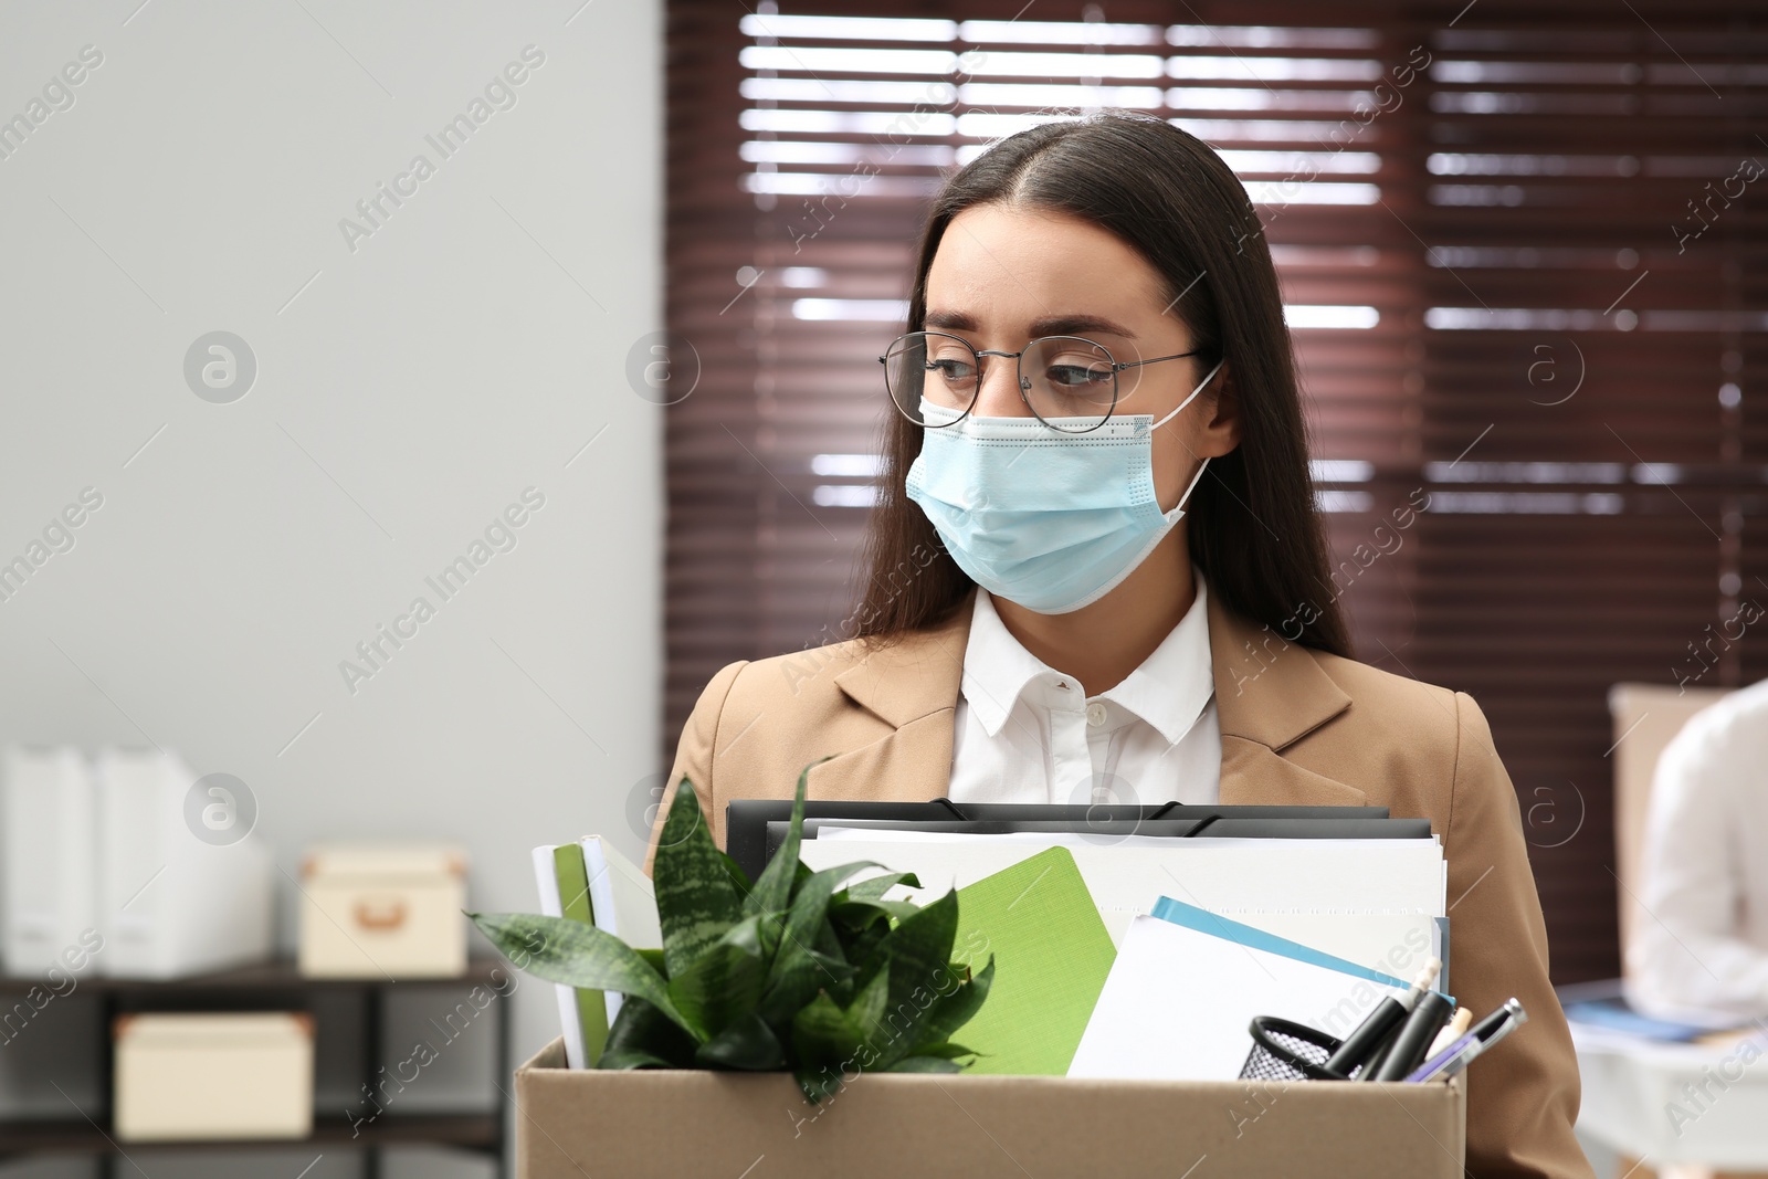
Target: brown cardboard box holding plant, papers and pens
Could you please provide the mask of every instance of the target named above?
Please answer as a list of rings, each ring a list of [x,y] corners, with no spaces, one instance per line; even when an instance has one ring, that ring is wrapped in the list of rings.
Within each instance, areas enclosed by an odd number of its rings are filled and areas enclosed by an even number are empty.
[[[1358,1175],[1459,1179],[1450,1084],[868,1073],[817,1107],[783,1073],[516,1069],[518,1179]]]

